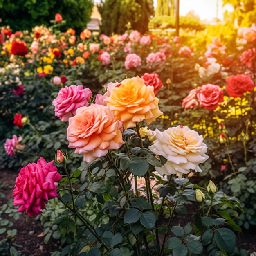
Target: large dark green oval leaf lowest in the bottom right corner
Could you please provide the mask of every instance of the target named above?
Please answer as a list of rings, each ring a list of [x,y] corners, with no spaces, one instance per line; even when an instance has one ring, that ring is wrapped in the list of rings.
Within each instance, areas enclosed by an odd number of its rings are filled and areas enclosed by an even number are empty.
[[[228,253],[232,253],[236,247],[236,236],[235,234],[225,227],[222,227],[215,231],[214,239],[221,249]]]

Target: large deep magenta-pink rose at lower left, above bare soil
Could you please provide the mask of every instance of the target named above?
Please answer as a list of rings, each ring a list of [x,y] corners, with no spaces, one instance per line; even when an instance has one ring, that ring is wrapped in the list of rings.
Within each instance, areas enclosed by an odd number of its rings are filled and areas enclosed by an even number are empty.
[[[58,196],[56,188],[61,179],[57,167],[40,157],[37,163],[28,164],[20,169],[13,190],[13,205],[21,205],[20,211],[27,211],[28,216],[41,214],[47,200]]]

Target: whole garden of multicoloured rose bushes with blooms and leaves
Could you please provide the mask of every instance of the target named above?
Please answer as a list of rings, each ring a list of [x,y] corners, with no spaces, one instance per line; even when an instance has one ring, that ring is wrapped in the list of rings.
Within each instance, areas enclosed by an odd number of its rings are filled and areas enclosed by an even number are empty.
[[[253,21],[64,25],[1,28],[0,172],[16,181],[8,198],[0,180],[0,255],[28,255],[22,216],[58,241],[42,255],[255,255],[239,242],[256,225]]]

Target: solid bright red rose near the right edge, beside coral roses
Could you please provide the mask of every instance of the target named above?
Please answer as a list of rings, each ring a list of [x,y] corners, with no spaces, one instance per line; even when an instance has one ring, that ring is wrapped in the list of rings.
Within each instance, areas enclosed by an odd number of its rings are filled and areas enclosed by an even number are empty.
[[[227,80],[225,88],[230,97],[242,97],[244,92],[252,92],[254,90],[254,82],[249,76],[245,75],[232,75]]]

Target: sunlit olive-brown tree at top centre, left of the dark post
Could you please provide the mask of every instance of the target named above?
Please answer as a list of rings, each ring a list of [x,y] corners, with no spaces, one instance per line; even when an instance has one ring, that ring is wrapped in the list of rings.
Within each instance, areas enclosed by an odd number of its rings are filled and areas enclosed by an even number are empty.
[[[130,28],[141,33],[148,31],[150,16],[154,14],[153,0],[106,0],[98,5],[101,13],[101,33],[122,34]]]

